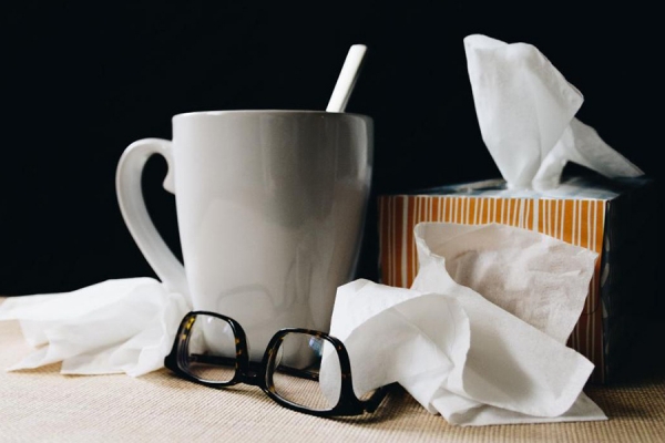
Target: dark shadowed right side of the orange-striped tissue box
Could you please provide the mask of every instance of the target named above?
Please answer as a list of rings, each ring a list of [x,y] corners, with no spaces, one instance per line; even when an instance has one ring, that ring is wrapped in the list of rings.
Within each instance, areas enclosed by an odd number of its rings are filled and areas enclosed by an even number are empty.
[[[645,339],[642,328],[649,318],[665,317],[657,298],[659,226],[654,182],[644,181],[608,203],[601,281],[608,381],[630,377],[628,356],[636,340]]]

